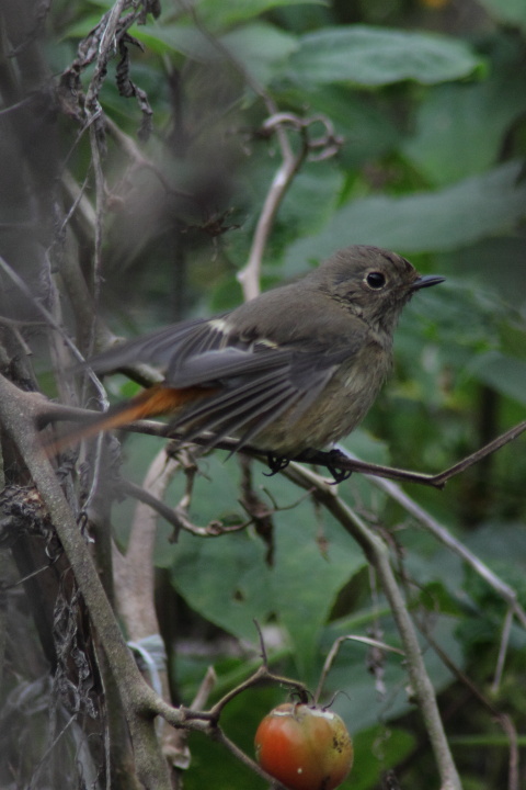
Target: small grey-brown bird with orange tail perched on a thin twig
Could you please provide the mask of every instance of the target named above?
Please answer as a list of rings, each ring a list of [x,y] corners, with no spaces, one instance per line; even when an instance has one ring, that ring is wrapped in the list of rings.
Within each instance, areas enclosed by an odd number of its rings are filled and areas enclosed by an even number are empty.
[[[98,373],[158,365],[155,385],[59,439],[171,415],[186,440],[211,431],[278,458],[345,437],[391,366],[392,334],[415,291],[443,282],[377,247],[336,252],[305,278],[231,313],[183,321],[93,359]]]

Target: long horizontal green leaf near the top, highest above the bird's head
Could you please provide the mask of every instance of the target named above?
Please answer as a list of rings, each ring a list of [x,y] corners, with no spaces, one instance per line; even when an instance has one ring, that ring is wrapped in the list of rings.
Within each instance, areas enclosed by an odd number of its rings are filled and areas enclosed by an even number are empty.
[[[290,59],[291,78],[304,84],[374,87],[402,80],[433,84],[469,77],[481,68],[480,58],[460,41],[366,25],[309,33]]]

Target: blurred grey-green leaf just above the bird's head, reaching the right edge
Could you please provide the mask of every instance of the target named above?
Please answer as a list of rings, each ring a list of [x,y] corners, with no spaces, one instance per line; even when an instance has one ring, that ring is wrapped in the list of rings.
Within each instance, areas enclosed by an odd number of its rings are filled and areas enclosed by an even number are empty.
[[[290,245],[286,273],[305,271],[306,261],[352,244],[407,253],[446,251],[508,230],[526,216],[521,172],[521,163],[507,162],[437,192],[356,200],[335,212],[316,238]]]

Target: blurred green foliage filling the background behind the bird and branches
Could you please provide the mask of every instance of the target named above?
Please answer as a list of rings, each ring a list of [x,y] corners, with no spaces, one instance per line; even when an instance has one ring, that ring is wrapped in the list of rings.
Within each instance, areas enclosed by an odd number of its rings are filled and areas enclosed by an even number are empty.
[[[79,40],[111,2],[52,3],[45,56],[60,74]],[[126,168],[108,138],[104,169],[112,201],[103,238],[102,306],[112,329],[135,335],[169,320],[239,303],[236,279],[278,166],[275,142],[256,134],[262,93],[283,112],[323,115],[344,144],[295,177],[267,247],[263,284],[297,276],[333,250],[374,244],[408,256],[422,272],[446,275],[411,303],[396,337],[392,380],[347,447],[367,460],[438,471],[524,419],[526,405],[526,10],[521,0],[286,2],[199,0],[191,13],[163,2],[161,15],[132,33],[132,77],[153,110],[148,140],[140,111],[123,99],[114,65],[103,109],[156,169]],[[88,70],[83,79],[88,81]],[[90,151],[60,119],[60,146],[78,183]],[[297,143],[295,143],[296,145]],[[171,185],[167,194],[165,183]],[[198,195],[185,199],[185,192]],[[87,194],[93,198],[89,181]],[[5,193],[2,211],[9,208]],[[16,214],[16,206],[13,208]],[[221,233],[218,233],[221,229]],[[23,248],[8,251],[24,274]],[[18,250],[18,251],[16,251]],[[91,253],[85,241],[83,255]],[[55,395],[46,364],[44,390]],[[128,382],[108,382],[112,397]],[[157,453],[130,437],[126,475],[140,482]],[[243,519],[240,470],[220,452],[203,462],[192,518]],[[526,605],[524,440],[503,448],[444,493],[408,493],[514,587]],[[275,668],[316,687],[327,652],[345,634],[374,630],[399,644],[386,602],[359,549],[279,476],[254,469],[261,496],[276,507],[274,561],[251,530],[170,542],[160,523],[156,564],[171,676],[187,703],[214,664],[217,696],[258,665],[253,620],[264,628]],[[168,501],[182,493],[178,481]],[[480,695],[512,719],[524,746],[526,634],[513,627],[504,673],[493,685],[506,605],[458,556],[385,493],[353,476],[341,495],[390,535],[408,606],[434,643]],[[126,541],[130,504],[113,524]],[[176,633],[176,639],[170,641]],[[469,790],[507,787],[506,738],[472,689],[423,639],[455,758]],[[438,787],[426,734],[407,689],[403,662],[346,642],[324,701],[355,740],[348,790],[381,787],[396,767],[400,787]],[[282,689],[236,698],[225,729],[248,753],[259,719]],[[263,787],[209,740],[191,737],[187,790]],[[522,779],[526,772],[522,767]]]

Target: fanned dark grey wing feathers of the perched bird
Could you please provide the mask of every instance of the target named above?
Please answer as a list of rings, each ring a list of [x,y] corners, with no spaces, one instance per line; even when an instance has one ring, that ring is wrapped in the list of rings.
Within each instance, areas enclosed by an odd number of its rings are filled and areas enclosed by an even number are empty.
[[[227,435],[240,445],[290,411],[295,422],[331,379],[348,349],[321,353],[251,340],[228,326],[228,318],[168,327],[125,343],[92,365],[106,372],[136,362],[161,365],[170,387],[209,387],[210,394],[187,406],[171,426],[186,439],[213,431],[214,442]]]

